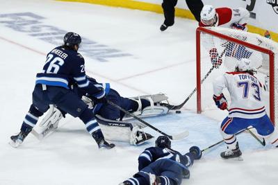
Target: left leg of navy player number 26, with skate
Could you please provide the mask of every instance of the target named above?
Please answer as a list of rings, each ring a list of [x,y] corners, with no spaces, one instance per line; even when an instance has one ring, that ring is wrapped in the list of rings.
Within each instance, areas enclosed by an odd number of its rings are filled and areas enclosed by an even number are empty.
[[[10,136],[10,145],[17,148],[26,138],[26,136],[32,131],[38,122],[38,118],[47,111],[49,100],[44,98],[42,93],[42,86],[36,85],[33,90],[33,104],[28,110],[19,134]]]

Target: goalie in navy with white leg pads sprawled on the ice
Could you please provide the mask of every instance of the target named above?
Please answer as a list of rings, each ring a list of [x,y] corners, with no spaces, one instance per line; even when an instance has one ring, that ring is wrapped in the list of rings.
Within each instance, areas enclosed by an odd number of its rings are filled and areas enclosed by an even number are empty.
[[[141,129],[143,125],[132,123],[129,116],[117,109],[113,105],[107,103],[107,100],[119,105],[126,111],[135,114],[139,117],[158,116],[167,114],[168,108],[162,106],[160,103],[167,100],[164,94],[155,94],[149,96],[138,96],[134,98],[124,98],[115,90],[111,89],[108,83],[98,83],[94,78],[88,77],[90,84],[104,91],[104,98],[97,99],[94,95],[89,95],[83,91],[79,91],[78,86],[74,86],[74,91],[83,101],[88,105],[92,112],[96,115],[96,120],[101,127],[106,139],[111,141],[129,142],[131,145],[137,146],[145,141],[152,139],[152,135],[143,132]],[[165,103],[163,103],[165,105]],[[40,125],[45,125],[40,131],[40,134],[35,133],[39,138],[47,135],[48,132],[53,131],[58,127],[58,122],[65,117],[60,107],[51,107],[46,118]],[[34,133],[34,132],[33,132]]]

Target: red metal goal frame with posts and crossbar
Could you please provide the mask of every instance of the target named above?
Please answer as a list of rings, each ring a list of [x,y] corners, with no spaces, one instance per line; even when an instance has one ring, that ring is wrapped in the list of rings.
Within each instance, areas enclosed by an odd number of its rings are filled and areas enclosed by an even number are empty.
[[[265,49],[261,46],[257,46],[255,44],[250,44],[248,42],[244,42],[242,40],[236,39],[234,37],[229,37],[228,35],[224,35],[222,33],[215,32],[214,30],[209,30],[204,27],[198,27],[196,29],[196,74],[197,74],[197,114],[201,114],[202,112],[202,104],[201,104],[201,33],[206,33],[208,35],[213,35],[215,37],[225,39],[229,42],[234,42],[235,44],[240,44],[250,49],[254,49],[256,51],[265,53],[269,55],[270,60],[270,67],[269,67],[269,74],[270,74],[270,120],[275,123],[275,103],[271,100],[271,97],[275,96],[275,76],[274,76],[274,64],[275,64],[275,53],[269,49]],[[204,71],[206,73],[206,71]],[[212,95],[211,95],[212,96]]]

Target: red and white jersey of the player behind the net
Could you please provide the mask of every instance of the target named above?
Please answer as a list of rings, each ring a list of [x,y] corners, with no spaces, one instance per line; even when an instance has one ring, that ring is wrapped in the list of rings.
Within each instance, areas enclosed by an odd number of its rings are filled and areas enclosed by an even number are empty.
[[[247,24],[247,19],[250,17],[250,12],[245,8],[215,8],[218,19],[215,26],[224,28],[232,28],[234,23]],[[199,21],[199,26],[206,26]]]

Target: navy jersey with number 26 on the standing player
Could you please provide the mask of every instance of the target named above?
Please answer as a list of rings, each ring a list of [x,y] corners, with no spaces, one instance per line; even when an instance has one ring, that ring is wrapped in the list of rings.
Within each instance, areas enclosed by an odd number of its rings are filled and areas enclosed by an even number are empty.
[[[47,54],[42,73],[37,73],[35,84],[70,89],[76,84],[81,91],[94,96],[105,94],[104,89],[90,83],[85,74],[84,58],[74,50],[58,46]]]

